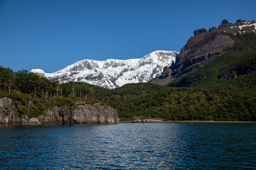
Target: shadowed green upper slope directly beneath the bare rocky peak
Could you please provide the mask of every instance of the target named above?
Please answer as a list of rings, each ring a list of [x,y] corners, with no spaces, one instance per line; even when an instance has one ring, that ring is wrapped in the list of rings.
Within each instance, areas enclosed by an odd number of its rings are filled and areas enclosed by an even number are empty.
[[[256,71],[256,51],[229,52],[200,69],[181,75],[167,86],[208,86]]]

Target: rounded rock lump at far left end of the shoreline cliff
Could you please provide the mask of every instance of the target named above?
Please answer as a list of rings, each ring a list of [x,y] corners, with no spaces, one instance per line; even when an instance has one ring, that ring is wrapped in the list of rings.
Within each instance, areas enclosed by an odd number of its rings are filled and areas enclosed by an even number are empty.
[[[11,98],[0,98],[0,123],[20,123],[18,111]]]

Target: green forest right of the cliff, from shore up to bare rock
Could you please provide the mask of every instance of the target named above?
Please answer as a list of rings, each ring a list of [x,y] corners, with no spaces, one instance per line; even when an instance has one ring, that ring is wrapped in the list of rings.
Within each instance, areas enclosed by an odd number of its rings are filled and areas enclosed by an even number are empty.
[[[169,86],[127,84],[97,89],[95,98],[124,119],[256,121],[255,63],[255,51],[227,53]]]

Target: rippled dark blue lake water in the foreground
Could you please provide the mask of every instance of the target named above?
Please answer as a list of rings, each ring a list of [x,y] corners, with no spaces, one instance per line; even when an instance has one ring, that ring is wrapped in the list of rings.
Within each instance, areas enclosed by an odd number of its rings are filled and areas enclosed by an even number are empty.
[[[256,169],[256,124],[0,125],[0,167]]]

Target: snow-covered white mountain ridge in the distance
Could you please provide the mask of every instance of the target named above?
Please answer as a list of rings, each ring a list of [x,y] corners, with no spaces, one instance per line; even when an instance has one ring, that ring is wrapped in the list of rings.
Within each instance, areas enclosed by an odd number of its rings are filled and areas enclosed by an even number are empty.
[[[175,62],[176,51],[159,50],[141,59],[130,60],[80,60],[58,72],[45,73],[42,69],[31,72],[60,82],[82,81],[88,84],[114,89],[124,84],[147,82],[159,77],[164,67]]]

